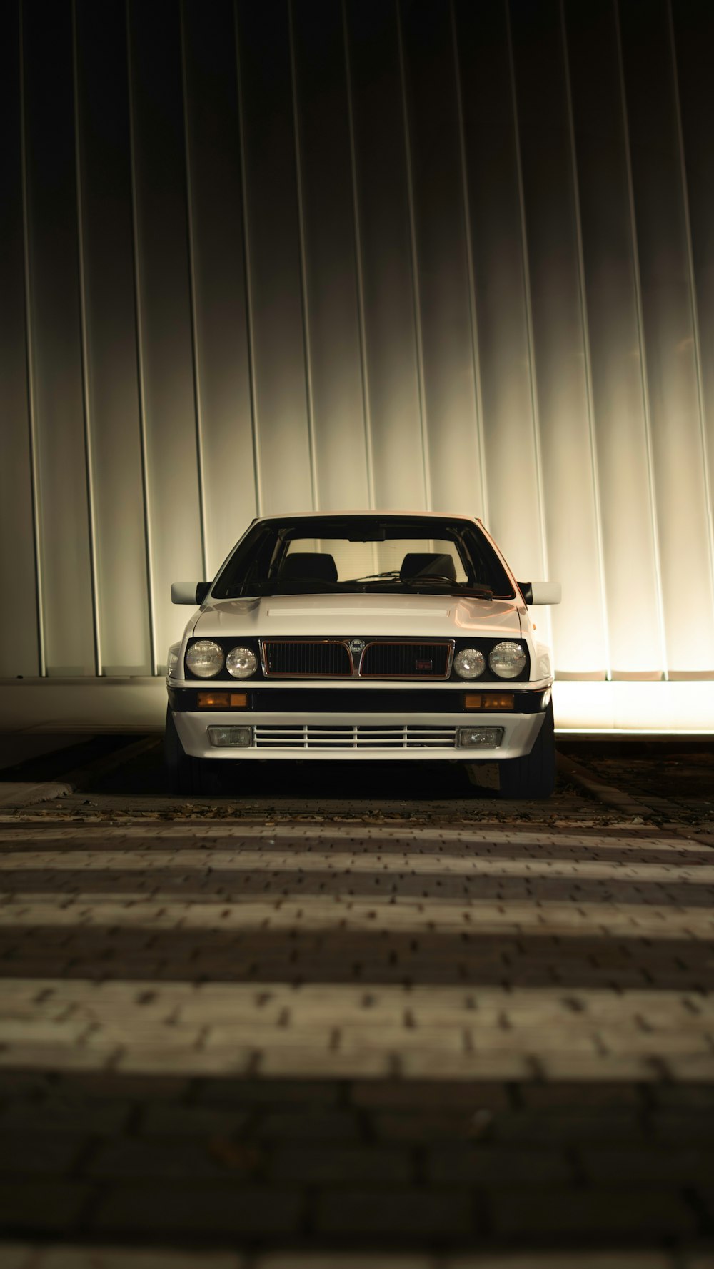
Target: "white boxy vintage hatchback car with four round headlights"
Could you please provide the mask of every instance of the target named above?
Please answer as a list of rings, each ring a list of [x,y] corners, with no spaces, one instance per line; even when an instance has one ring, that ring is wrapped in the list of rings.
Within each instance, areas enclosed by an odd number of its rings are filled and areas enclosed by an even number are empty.
[[[201,605],[169,648],[174,791],[207,791],[217,763],[299,758],[488,760],[503,797],[551,793],[553,670],[529,605],[560,586],[516,581],[480,520],[262,516],[172,599]]]

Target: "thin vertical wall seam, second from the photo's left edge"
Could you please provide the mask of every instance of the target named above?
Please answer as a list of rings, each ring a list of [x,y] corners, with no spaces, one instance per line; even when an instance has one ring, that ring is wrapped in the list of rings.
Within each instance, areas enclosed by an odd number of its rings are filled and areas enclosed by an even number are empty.
[[[97,514],[94,500],[94,471],[91,452],[91,420],[89,407],[89,353],[86,340],[86,287],[84,261],[84,209],[81,193],[81,146],[79,129],[79,53],[76,0],[72,0],[72,95],[75,114],[75,181],[77,214],[77,265],[79,265],[79,326],[81,350],[81,405],[84,414],[84,463],[86,476],[86,511],[89,527],[89,569],[91,576],[91,618],[94,626],[94,669],[102,676],[102,632],[99,627],[99,574],[97,567]]]

